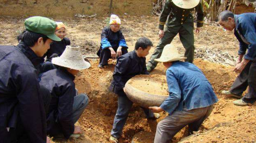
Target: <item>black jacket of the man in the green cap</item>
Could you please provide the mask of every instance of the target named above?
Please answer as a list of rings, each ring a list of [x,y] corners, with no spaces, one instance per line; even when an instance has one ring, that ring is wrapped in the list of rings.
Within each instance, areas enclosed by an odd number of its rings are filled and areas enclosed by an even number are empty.
[[[46,142],[45,109],[35,69],[40,62],[22,42],[0,46],[0,128],[22,125],[33,143]],[[1,140],[7,138],[1,135]]]

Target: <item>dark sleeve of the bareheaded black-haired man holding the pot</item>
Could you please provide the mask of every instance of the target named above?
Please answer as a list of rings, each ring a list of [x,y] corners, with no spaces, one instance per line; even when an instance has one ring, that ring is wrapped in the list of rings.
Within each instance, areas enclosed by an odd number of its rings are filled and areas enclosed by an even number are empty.
[[[122,78],[125,78],[125,74],[127,72],[127,69],[131,63],[131,60],[129,57],[123,57],[117,59],[115,71],[113,74],[113,78],[115,80],[116,87],[118,89],[122,89],[125,86],[125,83],[122,81]]]

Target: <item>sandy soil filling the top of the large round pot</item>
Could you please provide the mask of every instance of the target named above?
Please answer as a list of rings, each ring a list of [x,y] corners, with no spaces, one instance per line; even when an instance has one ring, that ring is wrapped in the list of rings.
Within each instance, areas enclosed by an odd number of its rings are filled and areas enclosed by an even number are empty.
[[[166,77],[163,75],[137,75],[128,81],[131,86],[153,95],[168,96]]]

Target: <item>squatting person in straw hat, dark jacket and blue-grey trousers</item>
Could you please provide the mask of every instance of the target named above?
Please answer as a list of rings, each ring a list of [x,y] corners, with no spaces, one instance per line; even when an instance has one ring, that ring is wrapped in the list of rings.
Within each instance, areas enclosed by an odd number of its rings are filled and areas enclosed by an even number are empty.
[[[74,124],[89,103],[88,96],[78,94],[75,76],[79,70],[88,69],[91,64],[82,58],[77,47],[67,46],[60,57],[52,59],[59,66],[39,76],[40,86],[50,90],[51,104],[47,114],[47,133],[54,138],[78,138],[82,129]]]

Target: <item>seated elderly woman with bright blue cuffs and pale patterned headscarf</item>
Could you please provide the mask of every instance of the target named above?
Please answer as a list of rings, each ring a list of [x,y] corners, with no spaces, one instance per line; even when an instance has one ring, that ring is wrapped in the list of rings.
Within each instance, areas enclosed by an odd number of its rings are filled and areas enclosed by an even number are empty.
[[[121,19],[116,15],[111,15],[109,25],[103,28],[101,33],[100,48],[97,52],[100,57],[99,68],[107,66],[110,58],[116,59],[128,53],[125,37],[120,30]]]

